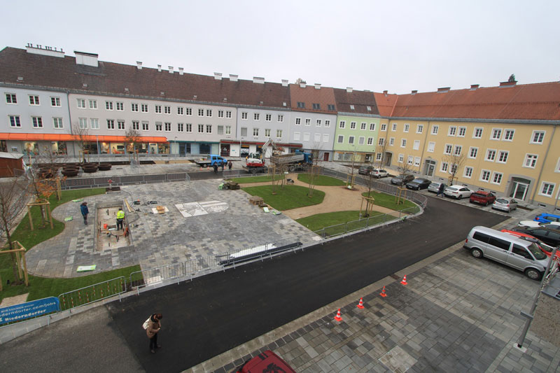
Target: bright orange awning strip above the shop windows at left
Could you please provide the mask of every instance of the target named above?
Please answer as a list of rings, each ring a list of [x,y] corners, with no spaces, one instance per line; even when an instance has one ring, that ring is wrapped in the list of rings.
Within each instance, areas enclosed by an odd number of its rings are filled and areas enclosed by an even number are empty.
[[[85,141],[104,143],[124,143],[126,136],[109,136],[109,135],[86,135]],[[79,141],[80,137],[74,134],[8,134],[0,132],[0,140],[14,141]],[[141,143],[167,143],[165,136],[140,136],[138,141]]]

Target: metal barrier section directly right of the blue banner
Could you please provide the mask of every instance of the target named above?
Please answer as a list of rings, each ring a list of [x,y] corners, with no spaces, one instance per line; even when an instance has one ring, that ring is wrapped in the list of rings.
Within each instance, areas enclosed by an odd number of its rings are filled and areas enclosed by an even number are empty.
[[[104,300],[114,295],[123,294],[127,291],[126,280],[123,276],[86,286],[78,290],[62,293],[58,296],[60,310],[71,309],[84,304]],[[120,298],[120,297],[119,297]]]

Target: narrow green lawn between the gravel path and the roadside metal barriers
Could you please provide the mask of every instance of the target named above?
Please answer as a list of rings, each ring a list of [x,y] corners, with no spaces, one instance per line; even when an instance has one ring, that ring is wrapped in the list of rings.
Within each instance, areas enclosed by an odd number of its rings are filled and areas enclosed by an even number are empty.
[[[359,218],[360,211],[336,211],[331,213],[318,213],[317,215],[307,216],[295,221],[314,232],[322,230],[325,227],[330,227],[326,230],[326,232],[332,236],[335,234],[344,233],[346,231],[346,225],[340,224],[352,222],[348,225],[347,229],[357,230],[367,226],[376,225],[378,223],[384,223],[388,220],[396,219],[396,217],[394,216],[389,216],[377,211],[372,211],[369,220],[367,220],[366,218],[358,220]]]

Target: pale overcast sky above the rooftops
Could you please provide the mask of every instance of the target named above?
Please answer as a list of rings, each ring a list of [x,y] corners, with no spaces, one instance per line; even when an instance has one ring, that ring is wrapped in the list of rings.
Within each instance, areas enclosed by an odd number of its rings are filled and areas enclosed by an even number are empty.
[[[391,93],[560,80],[560,1],[6,1],[0,48]]]

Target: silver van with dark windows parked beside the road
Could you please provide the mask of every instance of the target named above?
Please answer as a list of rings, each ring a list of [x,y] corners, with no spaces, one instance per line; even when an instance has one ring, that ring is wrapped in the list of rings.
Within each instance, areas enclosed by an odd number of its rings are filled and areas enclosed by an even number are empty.
[[[525,272],[533,280],[540,280],[549,260],[533,242],[481,226],[470,230],[463,247],[470,250],[475,258],[496,260]]]

